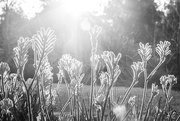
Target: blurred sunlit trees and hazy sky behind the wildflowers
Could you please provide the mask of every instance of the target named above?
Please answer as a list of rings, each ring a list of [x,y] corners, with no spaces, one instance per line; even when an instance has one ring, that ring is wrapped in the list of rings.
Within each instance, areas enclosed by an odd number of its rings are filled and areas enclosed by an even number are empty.
[[[11,72],[16,72],[13,48],[17,40],[31,38],[41,27],[55,31],[57,41],[50,54],[54,83],[58,72],[58,61],[63,54],[71,54],[83,62],[86,74],[83,82],[90,84],[91,44],[88,30],[102,27],[99,36],[98,54],[103,51],[122,53],[119,62],[122,73],[117,86],[129,86],[132,81],[130,65],[140,61],[137,53],[139,42],[149,42],[153,57],[148,62],[148,73],[158,63],[155,52],[159,41],[170,41],[172,53],[150,80],[159,84],[162,75],[174,74],[180,90],[180,1],[179,0],[0,0],[0,62],[7,62]],[[104,70],[100,62],[99,72]],[[29,61],[25,78],[33,77],[33,51],[29,50]],[[143,77],[140,77],[143,78]],[[138,87],[143,86],[140,79]]]

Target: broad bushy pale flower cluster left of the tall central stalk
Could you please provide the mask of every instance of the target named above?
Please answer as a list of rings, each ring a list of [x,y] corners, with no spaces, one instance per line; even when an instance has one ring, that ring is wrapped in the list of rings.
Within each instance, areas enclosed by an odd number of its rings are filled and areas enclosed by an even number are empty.
[[[77,93],[77,91],[82,87],[81,82],[84,77],[84,74],[82,73],[82,62],[66,54],[62,56],[58,64],[59,78],[63,77],[65,80],[69,78],[69,83],[66,80],[68,88],[71,92]],[[66,72],[68,73],[68,75],[65,74]]]

